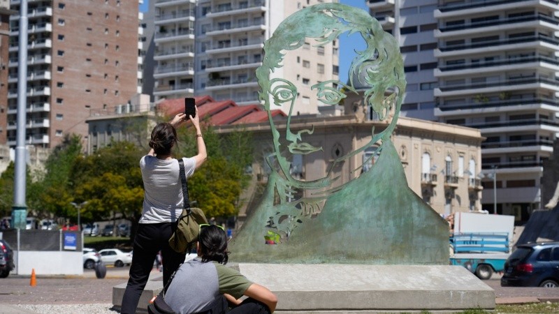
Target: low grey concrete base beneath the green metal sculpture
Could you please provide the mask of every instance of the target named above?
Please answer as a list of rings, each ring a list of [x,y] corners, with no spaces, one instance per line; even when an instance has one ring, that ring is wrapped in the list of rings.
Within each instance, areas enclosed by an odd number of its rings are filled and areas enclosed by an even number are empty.
[[[237,264],[250,281],[277,294],[275,313],[453,313],[495,308],[495,292],[460,266],[363,264]],[[126,283],[112,289],[118,308]],[[147,283],[138,311],[161,291]]]

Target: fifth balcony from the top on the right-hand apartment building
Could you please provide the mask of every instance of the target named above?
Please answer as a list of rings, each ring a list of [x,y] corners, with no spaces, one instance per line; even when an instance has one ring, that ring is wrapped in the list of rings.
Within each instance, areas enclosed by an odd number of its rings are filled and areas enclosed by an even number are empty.
[[[435,97],[456,96],[537,88],[549,89],[550,91],[557,92],[559,91],[559,80],[550,80],[544,77],[514,77],[501,80],[500,82],[444,85],[435,88],[433,94]]]

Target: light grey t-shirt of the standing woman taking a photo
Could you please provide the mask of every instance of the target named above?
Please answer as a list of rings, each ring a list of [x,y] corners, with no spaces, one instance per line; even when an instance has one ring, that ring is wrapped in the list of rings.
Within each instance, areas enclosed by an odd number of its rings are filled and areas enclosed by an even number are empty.
[[[182,158],[187,178],[194,174],[196,159]],[[179,162],[146,155],[140,159],[144,203],[140,223],[173,223],[182,213],[182,184]]]

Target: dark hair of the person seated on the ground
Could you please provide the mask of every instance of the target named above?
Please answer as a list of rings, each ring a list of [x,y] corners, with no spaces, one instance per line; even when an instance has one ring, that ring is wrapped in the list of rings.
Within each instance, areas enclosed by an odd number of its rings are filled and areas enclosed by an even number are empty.
[[[229,260],[227,252],[227,235],[225,231],[216,225],[202,227],[198,238],[202,262],[218,262],[227,264]]]

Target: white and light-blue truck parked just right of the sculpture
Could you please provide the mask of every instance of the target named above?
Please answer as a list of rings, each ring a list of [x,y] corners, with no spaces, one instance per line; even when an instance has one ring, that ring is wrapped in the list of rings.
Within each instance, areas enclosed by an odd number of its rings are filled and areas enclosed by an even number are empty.
[[[514,216],[475,212],[454,214],[450,264],[466,267],[480,279],[504,270],[513,246]]]

